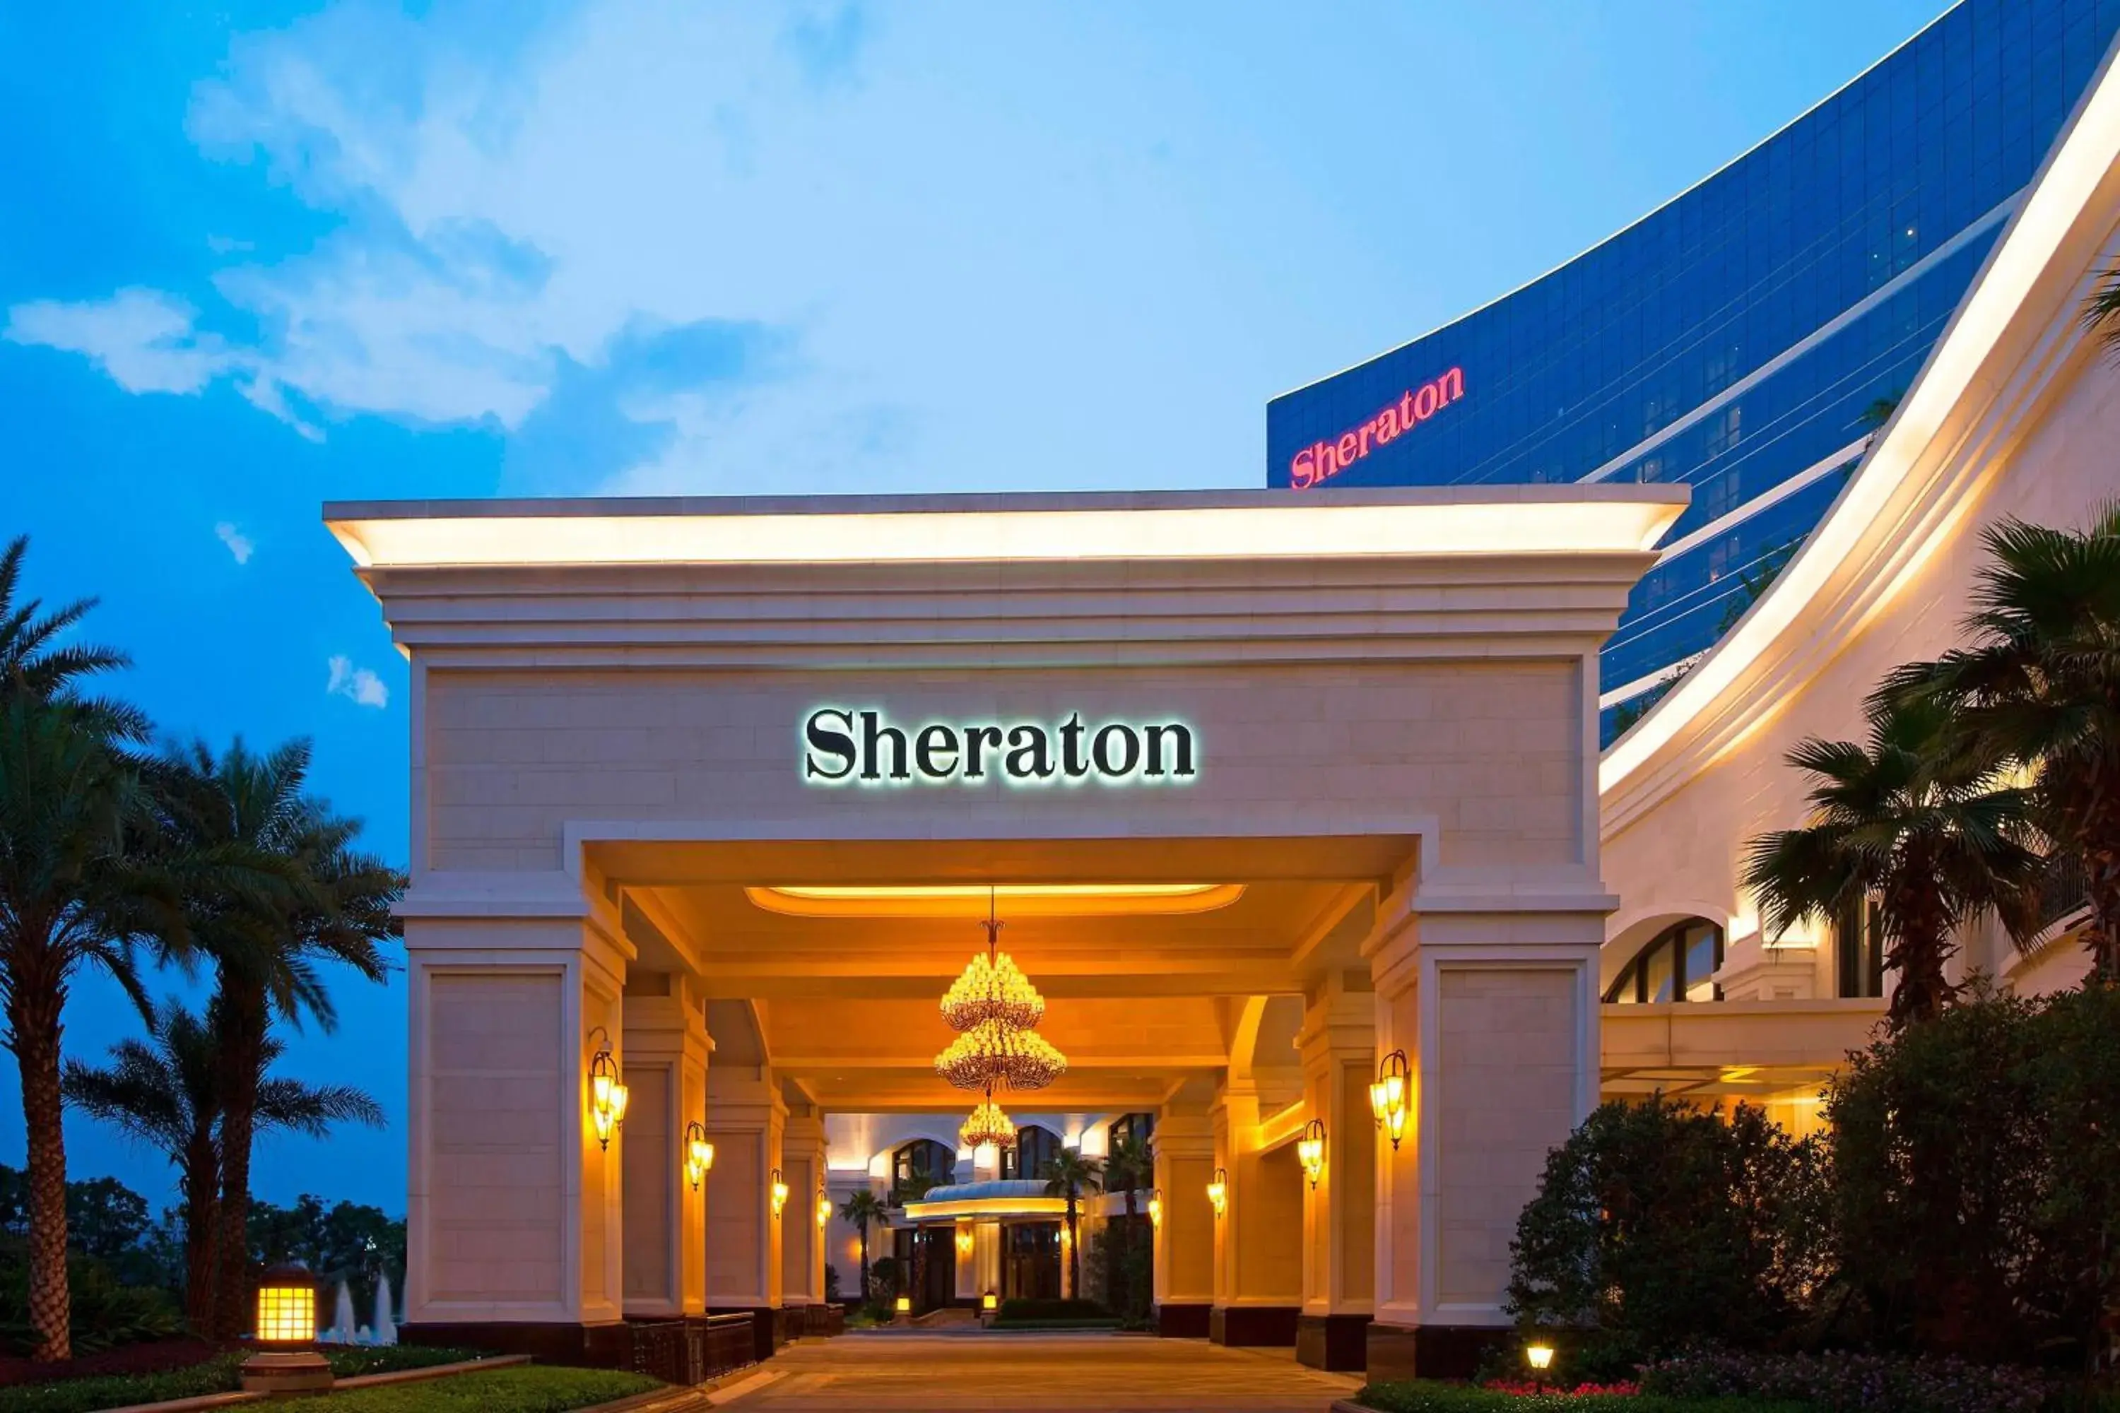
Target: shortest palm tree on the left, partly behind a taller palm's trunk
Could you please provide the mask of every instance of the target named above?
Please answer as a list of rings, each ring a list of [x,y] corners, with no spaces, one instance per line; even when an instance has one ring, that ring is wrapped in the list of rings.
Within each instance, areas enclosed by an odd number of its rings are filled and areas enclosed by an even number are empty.
[[[146,1040],[110,1047],[110,1068],[66,1061],[66,1099],[170,1155],[184,1203],[184,1316],[195,1330],[214,1318],[214,1233],[220,1205],[220,1047],[214,1015],[167,1000],[146,1010]],[[257,1131],[324,1138],[335,1123],[379,1127],[382,1106],[348,1085],[271,1076],[286,1047],[267,1038]]]

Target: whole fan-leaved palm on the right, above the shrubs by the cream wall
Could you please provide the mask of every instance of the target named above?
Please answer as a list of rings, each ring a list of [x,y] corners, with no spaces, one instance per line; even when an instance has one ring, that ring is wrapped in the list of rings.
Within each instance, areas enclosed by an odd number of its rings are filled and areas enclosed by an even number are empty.
[[[1933,1019],[1955,996],[1944,977],[1953,932],[1995,913],[2025,945],[2039,926],[2025,790],[1955,750],[1946,727],[1933,701],[1878,697],[1868,744],[1800,741],[1787,761],[1815,782],[1810,822],[1753,839],[1745,864],[1766,936],[1800,917],[1876,919],[1900,977],[1893,1030]]]

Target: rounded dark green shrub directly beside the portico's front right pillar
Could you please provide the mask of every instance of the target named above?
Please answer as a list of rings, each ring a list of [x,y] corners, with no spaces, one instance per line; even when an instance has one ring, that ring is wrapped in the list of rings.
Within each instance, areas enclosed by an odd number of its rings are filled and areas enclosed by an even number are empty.
[[[1764,1112],[1598,1106],[1545,1159],[1512,1244],[1509,1309],[1573,1377],[1624,1377],[1694,1341],[1753,1345],[1823,1275],[1823,1155]]]

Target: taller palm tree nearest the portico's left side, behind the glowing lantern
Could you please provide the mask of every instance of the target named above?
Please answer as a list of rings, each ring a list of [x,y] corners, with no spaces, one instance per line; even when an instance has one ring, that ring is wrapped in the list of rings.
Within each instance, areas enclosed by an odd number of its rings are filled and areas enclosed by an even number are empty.
[[[242,849],[269,862],[271,890],[208,896],[195,922],[214,955],[214,1034],[220,1053],[220,1231],[212,1330],[242,1335],[248,1320],[250,1146],[273,1021],[337,1025],[318,962],[335,960],[371,981],[386,964],[379,943],[403,934],[390,905],[405,875],[352,845],[360,822],[331,813],[303,792],[310,744],[254,754],[235,741],[223,756],[204,744],[159,763],[182,801],[182,828],[206,847]]]

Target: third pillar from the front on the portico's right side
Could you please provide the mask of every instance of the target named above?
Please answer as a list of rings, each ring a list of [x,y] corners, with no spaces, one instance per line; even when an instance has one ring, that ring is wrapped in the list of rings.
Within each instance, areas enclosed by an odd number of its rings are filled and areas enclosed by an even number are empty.
[[[1291,1347],[1304,1299],[1295,1135],[1283,1133],[1272,1146],[1261,1146],[1259,1095],[1249,1085],[1223,1089],[1213,1123],[1230,1195],[1215,1244],[1208,1339],[1219,1345]]]

